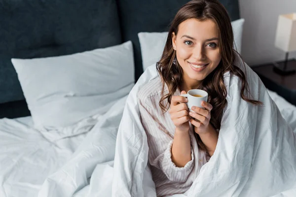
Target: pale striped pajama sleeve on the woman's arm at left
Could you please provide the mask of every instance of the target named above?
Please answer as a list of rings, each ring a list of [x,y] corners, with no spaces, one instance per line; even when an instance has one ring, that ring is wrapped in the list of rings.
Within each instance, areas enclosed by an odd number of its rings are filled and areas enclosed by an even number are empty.
[[[148,140],[149,164],[160,169],[169,180],[185,182],[194,166],[194,155],[190,146],[190,140],[188,143],[190,147],[188,150],[188,153],[190,154],[190,161],[188,161],[184,167],[178,167],[172,161],[172,146],[173,143],[175,143],[175,139],[178,141],[178,137],[182,136],[174,136],[173,138],[170,134],[168,134],[169,131],[166,131],[166,128],[164,128],[160,123],[158,117],[162,111],[161,109],[157,109],[158,112],[156,110],[156,107],[158,107],[158,101],[153,100],[152,97],[147,98],[145,95],[143,98],[140,96],[138,97],[141,122],[147,134]],[[175,135],[176,134],[177,133],[175,133]],[[177,148],[177,144],[175,143],[175,148]]]

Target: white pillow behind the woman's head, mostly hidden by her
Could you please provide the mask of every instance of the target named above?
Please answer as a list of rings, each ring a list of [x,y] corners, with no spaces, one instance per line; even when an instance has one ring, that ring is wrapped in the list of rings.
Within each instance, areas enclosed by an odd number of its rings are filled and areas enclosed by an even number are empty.
[[[234,49],[236,49],[239,53],[241,52],[241,46],[242,46],[242,34],[243,34],[244,22],[245,22],[245,19],[239,19],[231,22],[233,34],[234,34]],[[160,60],[167,36],[168,36],[168,32],[138,33],[140,46],[141,46],[143,70],[146,70],[148,66],[155,64]]]

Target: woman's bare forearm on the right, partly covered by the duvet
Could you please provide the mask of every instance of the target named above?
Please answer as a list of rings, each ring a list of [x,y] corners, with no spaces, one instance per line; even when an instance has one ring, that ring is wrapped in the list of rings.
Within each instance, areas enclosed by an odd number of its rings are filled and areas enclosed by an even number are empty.
[[[201,141],[205,144],[209,155],[212,157],[216,150],[218,142],[218,132],[213,128],[211,124],[208,125],[208,131],[199,133]]]

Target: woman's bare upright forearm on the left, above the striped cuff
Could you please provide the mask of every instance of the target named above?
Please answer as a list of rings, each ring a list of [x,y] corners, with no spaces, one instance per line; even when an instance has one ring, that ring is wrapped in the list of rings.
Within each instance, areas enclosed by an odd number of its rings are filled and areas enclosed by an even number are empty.
[[[184,167],[191,161],[191,144],[188,131],[176,129],[172,145],[172,162],[177,167]]]

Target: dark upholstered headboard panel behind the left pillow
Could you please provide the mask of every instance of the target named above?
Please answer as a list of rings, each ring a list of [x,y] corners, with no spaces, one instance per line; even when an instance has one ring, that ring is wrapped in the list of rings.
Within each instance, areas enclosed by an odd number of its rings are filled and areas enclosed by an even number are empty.
[[[0,103],[24,99],[11,58],[120,44],[118,15],[110,14],[114,12],[115,0],[0,0]]]

